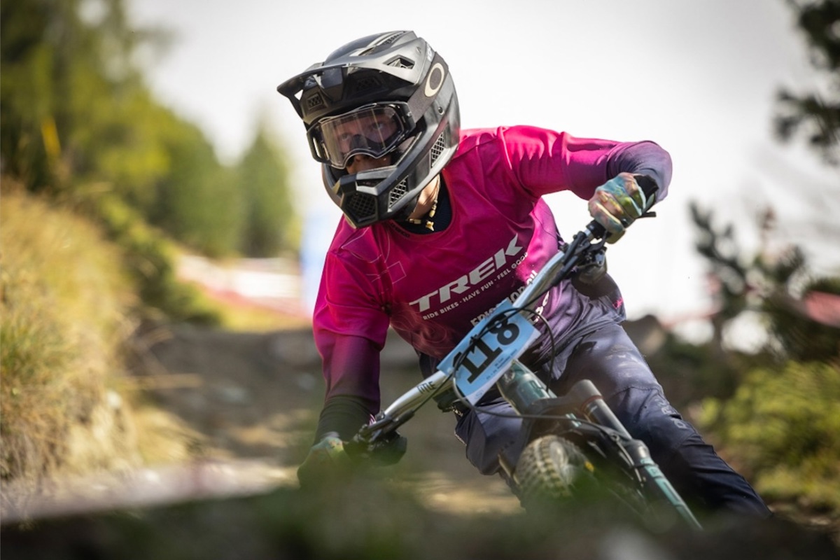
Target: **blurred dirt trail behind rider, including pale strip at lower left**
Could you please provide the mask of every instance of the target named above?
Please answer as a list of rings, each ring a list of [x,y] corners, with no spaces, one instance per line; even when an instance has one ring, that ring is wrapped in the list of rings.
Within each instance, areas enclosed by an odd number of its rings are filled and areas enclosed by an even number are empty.
[[[194,459],[63,478],[34,493],[26,484],[5,487],[4,522],[297,487],[297,466],[312,442],[323,400],[309,327],[255,333],[155,327],[139,347],[143,365],[135,381],[155,410],[175,417],[180,428],[173,437],[190,440]],[[396,337],[382,354],[382,371],[383,404],[419,379],[412,349]],[[401,429],[408,452],[390,468],[393,479],[432,510],[519,510],[501,479],[482,476],[468,463],[453,430],[451,414],[433,405],[420,411]],[[173,448],[182,450],[183,442]]]

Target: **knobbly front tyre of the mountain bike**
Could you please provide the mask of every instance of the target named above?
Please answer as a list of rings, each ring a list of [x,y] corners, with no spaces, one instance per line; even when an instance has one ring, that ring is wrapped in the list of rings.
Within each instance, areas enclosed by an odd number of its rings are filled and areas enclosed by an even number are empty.
[[[574,443],[551,434],[538,437],[528,443],[517,462],[514,477],[519,500],[526,510],[570,500],[580,486],[591,484],[593,470]]]

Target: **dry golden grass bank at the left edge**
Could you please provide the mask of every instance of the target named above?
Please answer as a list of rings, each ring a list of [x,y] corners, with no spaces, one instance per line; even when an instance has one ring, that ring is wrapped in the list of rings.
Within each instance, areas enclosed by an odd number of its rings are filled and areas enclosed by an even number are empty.
[[[135,327],[123,254],[91,222],[3,181],[0,479],[131,468],[178,439],[138,427],[123,343]],[[145,453],[148,454],[148,453]]]

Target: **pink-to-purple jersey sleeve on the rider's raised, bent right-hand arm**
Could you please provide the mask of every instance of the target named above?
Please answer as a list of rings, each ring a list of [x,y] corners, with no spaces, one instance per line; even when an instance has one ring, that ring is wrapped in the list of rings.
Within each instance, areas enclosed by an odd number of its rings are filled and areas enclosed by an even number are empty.
[[[652,176],[659,200],[668,191],[670,156],[654,142],[577,138],[527,126],[500,128],[499,137],[511,173],[532,196],[572,191],[588,200],[596,187],[622,171]]]

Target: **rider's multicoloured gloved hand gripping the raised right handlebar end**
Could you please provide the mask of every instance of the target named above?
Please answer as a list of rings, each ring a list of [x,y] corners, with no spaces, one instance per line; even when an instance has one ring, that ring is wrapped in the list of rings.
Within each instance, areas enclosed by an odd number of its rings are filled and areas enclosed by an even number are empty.
[[[648,207],[648,197],[630,173],[619,173],[595,190],[589,200],[589,213],[607,232],[609,243],[615,243],[633,221]]]

